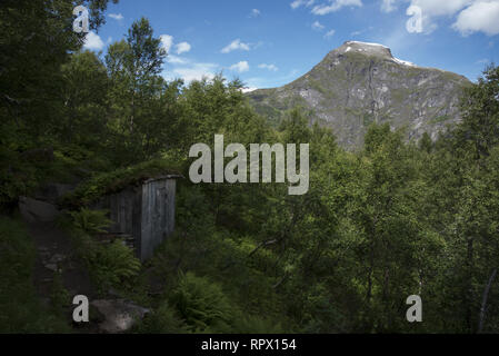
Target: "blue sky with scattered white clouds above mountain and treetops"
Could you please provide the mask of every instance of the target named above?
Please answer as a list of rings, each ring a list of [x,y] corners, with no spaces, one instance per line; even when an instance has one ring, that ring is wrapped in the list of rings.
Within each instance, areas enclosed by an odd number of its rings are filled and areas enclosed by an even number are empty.
[[[120,0],[106,16],[87,48],[106,51],[143,16],[170,55],[167,79],[223,72],[249,88],[278,87],[348,40],[471,80],[499,62],[499,0]]]

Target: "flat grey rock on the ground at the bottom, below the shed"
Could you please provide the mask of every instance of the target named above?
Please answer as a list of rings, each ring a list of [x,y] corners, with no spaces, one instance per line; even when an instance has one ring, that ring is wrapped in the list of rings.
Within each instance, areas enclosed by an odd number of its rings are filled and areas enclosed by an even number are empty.
[[[100,299],[93,300],[91,305],[103,315],[104,322],[99,324],[99,328],[108,334],[128,332],[138,319],[142,319],[149,314],[149,309],[137,306],[124,299]]]

